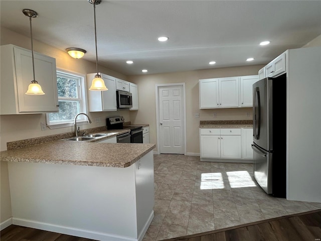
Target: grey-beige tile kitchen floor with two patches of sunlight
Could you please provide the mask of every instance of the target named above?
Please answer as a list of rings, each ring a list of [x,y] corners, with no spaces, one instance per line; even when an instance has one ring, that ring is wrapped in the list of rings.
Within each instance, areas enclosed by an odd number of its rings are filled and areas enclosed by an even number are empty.
[[[267,195],[252,164],[154,155],[154,218],[143,241],[155,241],[321,208]]]

